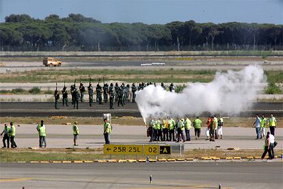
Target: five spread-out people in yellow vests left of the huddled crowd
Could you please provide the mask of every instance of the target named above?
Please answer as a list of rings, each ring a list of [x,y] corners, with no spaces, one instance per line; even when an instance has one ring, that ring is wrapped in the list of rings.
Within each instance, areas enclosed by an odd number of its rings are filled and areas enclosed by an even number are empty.
[[[107,118],[104,120],[104,125],[103,125],[103,136],[105,138],[105,144],[110,143],[110,133],[112,131],[112,127],[110,123],[107,121]],[[79,127],[78,127],[78,122],[75,121],[74,125],[72,125],[72,134],[74,136],[74,146],[78,146],[77,144],[77,138],[79,135]],[[44,125],[44,121],[40,121],[38,125],[36,126],[36,130],[38,131],[38,137],[39,137],[39,147],[40,148],[46,148],[46,127]],[[1,133],[1,136],[3,136],[3,147],[2,148],[10,148],[10,142],[11,142],[11,147],[12,149],[16,148],[16,142],[14,140],[16,136],[16,127],[14,126],[14,123],[10,123],[10,126],[8,124],[5,124],[4,129]],[[7,145],[6,145],[7,143]]]

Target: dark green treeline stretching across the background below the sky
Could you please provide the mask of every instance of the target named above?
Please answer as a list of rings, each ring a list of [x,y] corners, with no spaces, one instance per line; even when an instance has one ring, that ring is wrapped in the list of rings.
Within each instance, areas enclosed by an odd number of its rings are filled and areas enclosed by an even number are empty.
[[[44,20],[11,14],[0,23],[1,51],[283,50],[283,25],[101,23],[81,14]]]

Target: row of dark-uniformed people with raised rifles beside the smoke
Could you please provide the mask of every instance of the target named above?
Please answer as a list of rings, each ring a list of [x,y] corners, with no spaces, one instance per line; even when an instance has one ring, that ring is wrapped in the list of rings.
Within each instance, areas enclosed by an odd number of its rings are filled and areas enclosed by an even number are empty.
[[[120,105],[124,106],[126,105],[126,102],[130,102],[130,101],[135,103],[135,97],[136,97],[135,92],[137,92],[138,90],[143,90],[146,86],[149,85],[157,86],[155,83],[152,84],[152,82],[148,82],[147,84],[142,82],[139,83],[138,86],[136,86],[135,83],[133,83],[131,87],[129,84],[124,84],[124,83],[122,83],[120,86],[118,83],[116,83],[115,86],[113,85],[113,83],[111,83],[110,85],[104,83],[103,86],[100,86],[98,82],[98,84],[96,85],[96,102],[98,104],[103,104],[103,102],[104,103],[109,102],[109,110],[114,109],[113,108],[114,101],[118,103],[118,106]],[[163,83],[161,83],[161,87],[164,88],[165,90],[167,88]],[[175,91],[174,84],[170,84],[169,90],[170,92]],[[88,101],[90,106],[92,106],[94,103],[94,89],[92,87],[91,82],[87,86],[87,91],[89,98]],[[79,89],[77,88],[76,84],[72,84],[72,86],[70,86],[70,94],[72,96],[72,105],[74,109],[75,108],[79,109],[79,102],[83,102],[84,100],[83,97],[85,92],[86,92],[85,86],[83,86],[82,82],[80,82],[79,84]],[[60,94],[59,91],[57,90],[57,87],[54,92],[54,97],[55,97],[55,109],[59,110]],[[62,89],[62,105],[68,106],[68,90],[65,85],[64,88]]]

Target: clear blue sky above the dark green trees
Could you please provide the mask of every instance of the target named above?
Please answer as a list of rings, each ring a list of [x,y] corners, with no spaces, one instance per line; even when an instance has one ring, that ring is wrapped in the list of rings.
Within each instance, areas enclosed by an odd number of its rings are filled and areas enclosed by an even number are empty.
[[[10,14],[45,18],[83,14],[103,23],[283,23],[283,0],[0,0],[0,22]]]

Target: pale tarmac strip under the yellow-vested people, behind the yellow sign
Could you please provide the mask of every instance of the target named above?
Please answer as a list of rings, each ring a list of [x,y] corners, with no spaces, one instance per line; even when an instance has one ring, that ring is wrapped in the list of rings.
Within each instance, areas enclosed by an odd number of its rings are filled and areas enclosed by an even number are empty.
[[[38,120],[40,122],[40,120]],[[19,148],[38,147],[38,131],[36,124],[25,125],[21,123],[21,127],[16,127],[15,141]],[[79,127],[79,136],[77,148],[103,148],[105,140],[103,138],[103,120],[101,122],[92,123],[93,125],[81,125]],[[110,142],[112,144],[157,144],[157,142],[149,143],[150,138],[146,137],[146,127],[144,126],[125,126],[125,125],[112,125],[113,131],[110,134]],[[46,127],[46,144],[47,148],[72,148],[72,125],[45,125]],[[3,128],[3,127],[1,127]],[[193,129],[190,131],[191,141],[187,142],[158,142],[160,144],[170,144],[180,147],[184,145],[187,149],[262,149],[264,140],[254,140],[256,138],[256,129],[245,127],[225,127],[223,128],[223,139],[209,142],[205,140],[206,127],[202,127],[200,139],[195,140],[195,133]],[[267,129],[269,131],[269,128]],[[275,140],[278,142],[276,149],[283,148],[283,128],[275,129]],[[177,148],[178,149],[178,148]],[[278,154],[277,154],[278,155]]]

